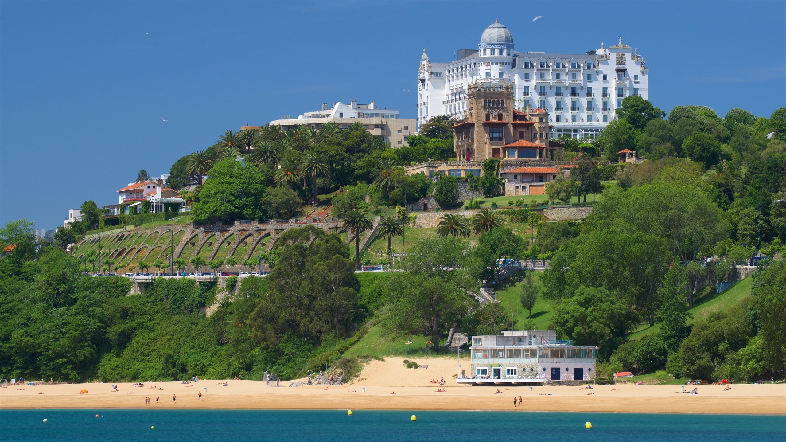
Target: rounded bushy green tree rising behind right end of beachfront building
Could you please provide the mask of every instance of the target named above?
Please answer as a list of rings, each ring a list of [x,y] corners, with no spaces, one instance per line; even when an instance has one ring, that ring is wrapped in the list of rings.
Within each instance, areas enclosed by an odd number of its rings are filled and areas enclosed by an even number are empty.
[[[554,309],[549,326],[575,345],[600,347],[598,354],[608,359],[634,324],[630,309],[615,300],[607,289],[582,285],[573,297],[562,300]]]

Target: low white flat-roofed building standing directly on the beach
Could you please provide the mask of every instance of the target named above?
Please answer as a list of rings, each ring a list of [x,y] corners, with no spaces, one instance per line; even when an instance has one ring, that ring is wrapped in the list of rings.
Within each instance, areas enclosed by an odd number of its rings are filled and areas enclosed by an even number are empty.
[[[459,384],[544,385],[589,381],[597,347],[558,341],[555,330],[509,330],[502,336],[473,336],[470,368]]]

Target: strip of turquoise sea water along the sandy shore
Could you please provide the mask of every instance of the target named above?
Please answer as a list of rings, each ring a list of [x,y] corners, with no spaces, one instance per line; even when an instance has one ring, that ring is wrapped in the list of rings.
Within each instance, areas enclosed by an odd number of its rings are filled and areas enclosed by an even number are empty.
[[[101,415],[96,418],[95,414]],[[0,411],[0,440],[391,442],[786,440],[781,416],[490,411]],[[43,419],[49,422],[42,422]],[[584,422],[593,429],[584,429]],[[155,429],[150,429],[150,426]],[[580,438],[580,439],[579,439]]]

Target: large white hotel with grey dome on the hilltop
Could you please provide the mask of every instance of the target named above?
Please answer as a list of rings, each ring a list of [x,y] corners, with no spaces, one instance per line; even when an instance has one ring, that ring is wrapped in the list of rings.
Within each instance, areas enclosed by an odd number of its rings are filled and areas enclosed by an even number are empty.
[[[480,36],[478,50],[458,50],[456,61],[432,63],[423,50],[417,122],[442,115],[463,120],[468,83],[502,81],[512,83],[516,108],[549,112],[549,138],[592,138],[614,119],[623,98],[648,99],[648,74],[644,58],[623,39],[586,53],[521,53],[508,28],[494,23]]]

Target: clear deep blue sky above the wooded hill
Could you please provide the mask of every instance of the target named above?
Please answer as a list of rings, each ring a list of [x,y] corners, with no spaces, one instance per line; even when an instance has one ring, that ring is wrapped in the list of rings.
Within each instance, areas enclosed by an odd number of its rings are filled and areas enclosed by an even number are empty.
[[[141,168],[322,102],[414,117],[402,90],[426,42],[451,61],[495,17],[521,52],[622,35],[666,111],[786,103],[786,2],[2,2],[0,223],[57,227],[85,200],[116,203]]]

